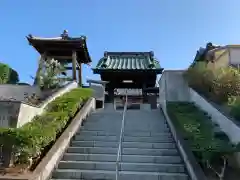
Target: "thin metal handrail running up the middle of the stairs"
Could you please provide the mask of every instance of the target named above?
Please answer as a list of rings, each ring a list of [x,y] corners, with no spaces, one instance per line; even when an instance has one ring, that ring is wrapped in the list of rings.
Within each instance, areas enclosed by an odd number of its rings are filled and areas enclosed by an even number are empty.
[[[123,108],[123,116],[122,116],[121,132],[120,132],[120,136],[119,136],[117,160],[116,160],[116,180],[118,180],[118,177],[119,177],[119,161],[122,156],[122,140],[123,140],[123,134],[124,134],[125,115],[126,115],[126,111],[127,111],[127,105],[128,105],[128,98],[127,98],[127,91],[126,91],[125,103],[124,103],[124,108]]]

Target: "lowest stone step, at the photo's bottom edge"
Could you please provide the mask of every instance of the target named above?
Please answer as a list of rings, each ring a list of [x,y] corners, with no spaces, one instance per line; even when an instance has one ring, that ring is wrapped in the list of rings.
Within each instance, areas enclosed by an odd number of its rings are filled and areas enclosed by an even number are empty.
[[[53,178],[60,179],[88,179],[88,180],[115,180],[115,171],[103,170],[78,170],[78,169],[57,169]],[[188,180],[185,173],[166,172],[134,172],[120,171],[119,180]]]

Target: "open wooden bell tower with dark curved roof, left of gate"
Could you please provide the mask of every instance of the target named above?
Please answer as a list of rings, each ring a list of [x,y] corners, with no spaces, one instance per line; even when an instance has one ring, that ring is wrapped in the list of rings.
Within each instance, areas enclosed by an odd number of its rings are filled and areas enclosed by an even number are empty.
[[[82,85],[82,72],[81,64],[91,63],[89,56],[86,36],[70,37],[67,30],[58,36],[53,38],[36,37],[28,35],[27,40],[31,46],[33,46],[40,54],[39,61],[46,61],[49,59],[58,60],[60,63],[71,64],[67,67],[67,70],[72,70],[72,79]],[[42,63],[39,63],[41,65]],[[41,67],[38,67],[36,77]],[[78,70],[78,78],[77,78]],[[37,84],[37,78],[34,84]]]

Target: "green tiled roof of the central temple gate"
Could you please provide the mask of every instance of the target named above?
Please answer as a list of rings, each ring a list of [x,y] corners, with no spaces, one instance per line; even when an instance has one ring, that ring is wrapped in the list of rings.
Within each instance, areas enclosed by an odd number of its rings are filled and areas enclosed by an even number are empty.
[[[95,69],[160,70],[162,68],[152,52],[105,52]]]

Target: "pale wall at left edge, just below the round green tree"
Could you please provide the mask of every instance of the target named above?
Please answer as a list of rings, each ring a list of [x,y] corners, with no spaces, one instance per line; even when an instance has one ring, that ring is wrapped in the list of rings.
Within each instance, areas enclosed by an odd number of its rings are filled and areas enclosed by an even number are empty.
[[[0,85],[0,100],[24,101],[26,96],[30,96],[34,93],[37,96],[41,95],[40,89],[36,86],[11,84]]]

